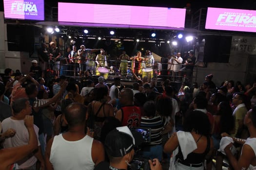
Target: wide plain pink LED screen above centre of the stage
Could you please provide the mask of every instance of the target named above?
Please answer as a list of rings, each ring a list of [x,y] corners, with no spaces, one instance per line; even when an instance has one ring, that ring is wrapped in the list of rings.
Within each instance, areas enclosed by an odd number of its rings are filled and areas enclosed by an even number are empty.
[[[184,28],[185,13],[185,9],[179,8],[63,2],[58,5],[59,22]]]

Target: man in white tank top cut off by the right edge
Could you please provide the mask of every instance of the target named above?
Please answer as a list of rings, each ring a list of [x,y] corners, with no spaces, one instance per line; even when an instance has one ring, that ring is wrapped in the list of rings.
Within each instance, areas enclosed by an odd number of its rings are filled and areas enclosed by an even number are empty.
[[[224,151],[234,170],[256,170],[256,107],[247,112],[244,124],[248,127],[250,137],[243,144],[239,160],[230,151],[232,143]],[[233,139],[238,142],[242,140],[235,137]]]

